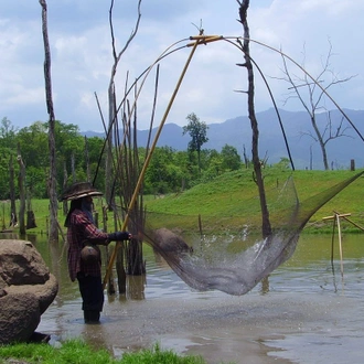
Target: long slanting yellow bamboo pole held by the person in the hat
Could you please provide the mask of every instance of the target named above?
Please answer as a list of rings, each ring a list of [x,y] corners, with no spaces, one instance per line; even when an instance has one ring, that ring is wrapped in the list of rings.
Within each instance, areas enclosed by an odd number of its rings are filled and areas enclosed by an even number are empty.
[[[167,117],[168,117],[168,115],[169,115],[169,111],[171,110],[172,104],[173,104],[173,101],[174,101],[174,99],[175,99],[175,96],[176,96],[176,94],[178,94],[178,92],[179,92],[179,89],[180,89],[180,86],[181,86],[181,84],[182,84],[183,77],[184,77],[184,75],[185,75],[185,73],[186,73],[186,71],[188,71],[188,68],[189,68],[189,65],[190,65],[191,60],[192,60],[192,57],[193,57],[193,54],[194,54],[194,52],[195,52],[195,50],[196,50],[196,47],[197,47],[199,44],[204,44],[204,38],[202,38],[201,40],[196,40],[196,41],[194,42],[194,45],[193,45],[193,47],[192,47],[192,50],[191,50],[191,53],[190,53],[190,56],[189,56],[189,58],[188,58],[188,61],[186,61],[186,63],[185,63],[185,65],[184,65],[184,68],[183,68],[183,71],[182,71],[182,73],[181,73],[181,76],[180,76],[180,78],[179,78],[179,81],[178,81],[178,83],[176,83],[176,85],[175,85],[175,88],[174,88],[174,92],[173,92],[173,94],[172,94],[172,97],[171,97],[171,99],[170,99],[170,101],[169,101],[169,104],[168,104],[168,106],[167,106],[167,109],[165,109],[165,111],[164,111],[164,115],[163,115],[163,118],[162,118],[162,120],[161,120],[161,124],[160,124],[160,126],[159,126],[159,128],[158,128],[158,130],[157,130],[157,133],[156,133],[156,137],[154,137],[153,143],[152,143],[152,146],[151,146],[151,148],[150,148],[150,151],[149,151],[149,153],[148,153],[148,156],[147,156],[147,159],[146,159],[146,161],[144,161],[144,163],[143,163],[143,167],[142,167],[141,171],[140,171],[140,175],[139,175],[139,179],[138,179],[138,182],[137,182],[136,189],[135,189],[135,191],[133,191],[133,194],[132,194],[132,196],[131,196],[131,200],[130,200],[130,203],[129,203],[129,206],[128,206],[128,212],[127,212],[126,217],[125,217],[125,220],[124,220],[124,222],[122,222],[121,231],[124,231],[124,232],[126,231],[126,227],[128,226],[128,222],[129,222],[129,212],[132,210],[132,206],[133,206],[133,204],[136,203],[137,196],[138,196],[138,194],[139,194],[139,190],[140,190],[140,188],[141,188],[141,183],[142,183],[142,181],[143,181],[143,178],[144,178],[144,174],[146,174],[146,171],[147,171],[148,164],[149,164],[149,162],[150,162],[150,159],[151,159],[151,157],[152,157],[153,150],[156,149],[156,146],[157,146],[157,142],[158,142],[159,136],[160,136],[160,133],[161,133],[161,131],[162,131],[162,128],[163,128],[163,126],[164,126],[164,122],[165,122],[165,120],[167,120]],[[109,260],[109,264],[108,264],[108,267],[107,267],[107,270],[106,270],[105,277],[104,277],[104,282],[103,282],[103,287],[104,287],[104,289],[105,289],[105,287],[106,287],[106,283],[107,283],[107,280],[108,280],[108,277],[109,277],[110,271],[111,271],[111,269],[113,269],[113,266],[114,266],[114,263],[115,263],[115,258],[116,258],[116,253],[117,253],[117,249],[119,248],[119,244],[120,244],[120,242],[117,242],[117,243],[116,243],[116,246],[115,246],[115,248],[114,248],[114,251],[113,251],[113,254],[111,254],[111,256],[110,256],[110,260]]]

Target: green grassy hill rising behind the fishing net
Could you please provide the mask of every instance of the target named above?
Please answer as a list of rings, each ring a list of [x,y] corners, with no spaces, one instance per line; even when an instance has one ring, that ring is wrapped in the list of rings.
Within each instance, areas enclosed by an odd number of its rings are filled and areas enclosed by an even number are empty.
[[[356,173],[357,171],[291,172],[275,168],[264,170],[265,189],[271,220],[275,221],[275,212],[279,208],[277,201],[292,200],[292,186],[285,190],[285,183],[290,176],[293,179],[299,201],[306,203],[311,199],[311,203],[312,201],[314,203],[314,200],[319,197],[319,193],[352,178]],[[350,220],[364,226],[364,205],[361,199],[363,188],[364,178],[360,176],[324,204],[311,217],[306,231],[331,232],[332,221],[323,221],[322,218],[332,216],[333,211],[341,214],[350,213],[351,216],[347,216]],[[201,214],[202,216],[215,216],[216,220],[217,217],[236,220],[236,224],[242,224],[244,217],[246,217],[250,223],[260,225],[258,190],[254,182],[251,170],[225,173],[208,183],[199,184],[189,191],[148,200],[146,205],[148,211],[163,214],[185,216]],[[277,218],[280,218],[279,216]],[[235,224],[233,223],[233,225]],[[345,228],[353,226],[352,224],[343,225]],[[354,231],[357,231],[357,228],[354,228]]]

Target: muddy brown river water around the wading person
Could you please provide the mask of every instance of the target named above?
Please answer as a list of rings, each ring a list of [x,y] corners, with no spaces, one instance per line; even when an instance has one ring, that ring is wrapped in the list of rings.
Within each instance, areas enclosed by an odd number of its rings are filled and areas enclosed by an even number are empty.
[[[302,235],[293,256],[240,297],[193,291],[146,248],[146,277],[128,277],[126,295],[106,293],[98,325],[83,322],[62,244],[30,239],[60,282],[38,328],[51,335],[51,344],[81,336],[120,357],[159,343],[181,355],[202,355],[211,364],[363,362],[362,234],[343,236],[342,261],[335,239],[333,263],[331,236]]]

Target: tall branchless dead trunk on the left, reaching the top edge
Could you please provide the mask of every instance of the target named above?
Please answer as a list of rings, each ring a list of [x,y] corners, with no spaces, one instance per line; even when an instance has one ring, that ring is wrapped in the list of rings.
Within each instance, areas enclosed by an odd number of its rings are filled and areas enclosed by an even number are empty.
[[[57,192],[56,192],[56,159],[55,159],[55,116],[52,98],[51,82],[51,51],[47,31],[47,7],[45,0],[39,0],[42,7],[42,32],[44,43],[44,79],[45,79],[45,98],[46,109],[49,114],[49,149],[50,149],[50,175],[49,175],[49,196],[50,196],[50,242],[58,242],[58,221],[57,221]]]

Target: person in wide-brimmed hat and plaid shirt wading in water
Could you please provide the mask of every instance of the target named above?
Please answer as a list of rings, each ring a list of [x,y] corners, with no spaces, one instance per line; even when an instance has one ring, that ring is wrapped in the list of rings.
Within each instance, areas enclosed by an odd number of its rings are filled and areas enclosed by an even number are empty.
[[[67,227],[67,264],[72,281],[77,279],[83,299],[85,323],[98,323],[104,307],[101,259],[97,245],[131,238],[128,232],[107,234],[98,229],[93,218],[93,196],[100,196],[89,182],[68,188],[62,201],[71,201],[64,226]]]

